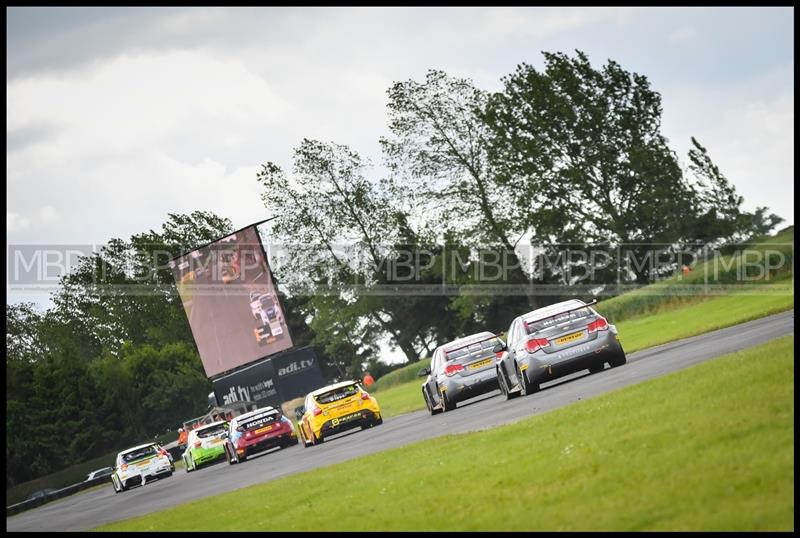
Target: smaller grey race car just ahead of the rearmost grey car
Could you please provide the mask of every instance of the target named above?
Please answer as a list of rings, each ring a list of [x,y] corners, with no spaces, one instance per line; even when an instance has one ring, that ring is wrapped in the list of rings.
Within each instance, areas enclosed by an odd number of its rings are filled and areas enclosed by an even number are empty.
[[[431,415],[497,389],[494,347],[498,343],[497,335],[487,331],[436,348],[430,367],[418,374],[428,376],[422,384],[422,398]]]

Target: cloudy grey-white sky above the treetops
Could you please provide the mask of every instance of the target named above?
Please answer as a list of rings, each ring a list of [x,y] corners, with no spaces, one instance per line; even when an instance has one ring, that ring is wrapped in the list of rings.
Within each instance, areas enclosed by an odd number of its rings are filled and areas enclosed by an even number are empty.
[[[794,222],[791,8],[8,8],[8,244],[104,243],[210,210],[303,137],[380,161],[386,89],[430,68],[499,90],[541,51],[646,75],[745,197]],[[11,294],[10,301],[21,299]]]

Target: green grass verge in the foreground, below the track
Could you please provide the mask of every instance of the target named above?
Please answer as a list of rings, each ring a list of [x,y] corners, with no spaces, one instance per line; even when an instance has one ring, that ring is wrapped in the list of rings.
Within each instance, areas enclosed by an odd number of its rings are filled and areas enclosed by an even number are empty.
[[[99,530],[793,530],[793,346]]]

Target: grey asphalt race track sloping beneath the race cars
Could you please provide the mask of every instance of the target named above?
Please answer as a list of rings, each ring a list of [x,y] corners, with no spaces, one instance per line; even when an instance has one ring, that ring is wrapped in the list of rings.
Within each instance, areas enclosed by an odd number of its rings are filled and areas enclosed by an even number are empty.
[[[245,304],[245,308],[246,306]],[[448,433],[514,422],[793,333],[794,310],[790,310],[629,354],[628,364],[625,366],[614,369],[607,367],[603,372],[594,375],[579,372],[546,383],[541,392],[527,397],[505,401],[500,392],[495,391],[462,402],[455,411],[434,417],[427,411],[408,413],[387,419],[382,426],[370,430],[345,432],[326,440],[320,446],[304,449],[298,444],[257,455],[241,465],[222,462],[190,474],[180,471],[171,478],[149,482],[144,487],[120,494],[114,493],[109,482],[107,487],[54,501],[6,518],[6,530],[89,529],[387,448]],[[376,396],[380,402],[380,394]]]

